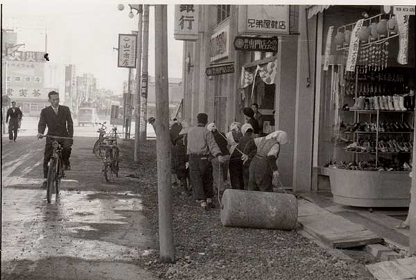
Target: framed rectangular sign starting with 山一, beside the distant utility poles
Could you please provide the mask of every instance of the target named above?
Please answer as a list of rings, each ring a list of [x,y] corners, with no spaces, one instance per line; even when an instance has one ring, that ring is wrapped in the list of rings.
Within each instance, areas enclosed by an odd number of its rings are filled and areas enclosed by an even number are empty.
[[[119,67],[136,68],[137,35],[119,34]]]

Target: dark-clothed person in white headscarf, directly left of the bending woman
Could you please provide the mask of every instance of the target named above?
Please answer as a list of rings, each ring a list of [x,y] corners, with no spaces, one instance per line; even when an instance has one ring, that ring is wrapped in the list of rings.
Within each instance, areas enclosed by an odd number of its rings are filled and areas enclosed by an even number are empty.
[[[244,152],[244,155],[248,156],[246,161],[243,161],[243,181],[244,181],[244,189],[248,189],[248,180],[249,180],[249,168],[253,157],[256,155],[257,146],[254,143],[253,139],[253,128],[250,123],[245,123],[241,127],[241,132],[243,132],[244,136],[241,137],[239,141],[239,145],[237,145],[237,149]],[[244,159],[244,157],[242,157]]]

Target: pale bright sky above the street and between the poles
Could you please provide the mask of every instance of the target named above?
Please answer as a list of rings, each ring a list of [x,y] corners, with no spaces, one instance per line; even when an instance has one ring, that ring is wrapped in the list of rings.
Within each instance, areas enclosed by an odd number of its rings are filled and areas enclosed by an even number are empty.
[[[125,9],[117,6],[123,3]],[[121,94],[128,69],[117,67],[119,33],[137,30],[138,17],[130,19],[128,3],[123,1],[6,1],[3,3],[3,28],[17,32],[20,51],[47,52],[51,62],[75,64],[77,76],[93,73],[98,87]],[[135,11],[133,11],[135,12]],[[148,73],[155,76],[154,8],[150,7]],[[173,38],[174,5],[168,5],[168,76],[182,78],[182,41]],[[172,24],[170,24],[172,23]]]

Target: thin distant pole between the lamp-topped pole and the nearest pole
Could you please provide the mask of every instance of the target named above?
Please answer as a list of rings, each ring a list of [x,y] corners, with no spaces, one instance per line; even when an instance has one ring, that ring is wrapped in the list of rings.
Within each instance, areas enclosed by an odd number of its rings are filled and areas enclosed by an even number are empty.
[[[141,100],[140,100],[140,142],[147,138],[147,97],[148,97],[148,50],[149,50],[149,6],[143,11],[143,65],[141,67]]]

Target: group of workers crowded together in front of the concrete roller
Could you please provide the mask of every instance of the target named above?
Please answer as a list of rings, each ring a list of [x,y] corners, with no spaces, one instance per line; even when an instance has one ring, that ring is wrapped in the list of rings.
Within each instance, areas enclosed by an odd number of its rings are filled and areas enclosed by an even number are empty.
[[[271,192],[275,185],[276,161],[288,135],[277,130],[263,136],[255,103],[243,114],[245,123],[231,123],[227,133],[208,124],[205,113],[198,114],[192,128],[177,120],[171,126],[172,173],[204,209],[214,207],[215,192],[227,189],[228,173],[232,189]]]

